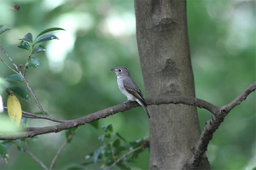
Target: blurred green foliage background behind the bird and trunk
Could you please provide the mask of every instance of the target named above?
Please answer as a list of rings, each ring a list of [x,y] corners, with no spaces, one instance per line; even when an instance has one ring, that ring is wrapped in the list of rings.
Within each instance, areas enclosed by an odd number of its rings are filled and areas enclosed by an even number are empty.
[[[12,4],[19,5],[20,10],[10,9]],[[226,105],[255,82],[255,1],[188,0],[187,6],[196,97],[214,105]],[[26,71],[27,81],[49,116],[75,119],[125,101],[115,75],[109,71],[119,65],[129,68],[131,77],[147,96],[137,54],[132,0],[2,0],[0,11],[0,25],[6,24],[10,29],[1,35],[0,44],[16,64],[26,64],[28,54],[17,46],[27,32],[38,35],[49,27],[66,30],[55,33],[58,41],[42,42],[46,53],[37,57],[43,66]],[[10,65],[3,51],[0,55]],[[0,77],[13,74],[3,63],[0,65]],[[6,99],[7,94],[3,93],[4,105]],[[255,101],[255,93],[249,95],[214,133],[207,150],[212,169],[256,167]],[[31,104],[20,102],[24,111],[39,111],[33,99]],[[202,128],[212,115],[198,111]],[[6,112],[0,118],[5,115]],[[99,126],[110,123],[129,141],[149,135],[148,117],[142,108],[98,121]],[[53,124],[28,121],[29,127]],[[55,168],[80,165],[84,156],[102,145],[97,139],[100,135],[102,131],[90,125],[80,127],[61,152]],[[33,139],[29,149],[48,166],[65,140],[65,132],[50,133]],[[129,165],[131,169],[148,169],[148,161],[149,152],[145,151]],[[30,156],[11,145],[9,163],[1,159],[0,169],[18,168],[41,169]]]

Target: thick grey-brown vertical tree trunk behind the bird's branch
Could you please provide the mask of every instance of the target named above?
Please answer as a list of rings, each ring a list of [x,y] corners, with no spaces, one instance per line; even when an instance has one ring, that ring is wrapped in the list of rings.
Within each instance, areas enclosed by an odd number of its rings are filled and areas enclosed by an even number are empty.
[[[195,97],[186,1],[135,0],[137,47],[147,98]],[[149,169],[183,169],[200,138],[195,106],[150,105]],[[207,169],[207,157],[201,168]]]

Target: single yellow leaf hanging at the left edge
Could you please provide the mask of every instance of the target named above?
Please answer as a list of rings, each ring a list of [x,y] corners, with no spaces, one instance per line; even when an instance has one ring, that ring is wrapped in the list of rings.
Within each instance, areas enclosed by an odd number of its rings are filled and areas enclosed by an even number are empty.
[[[20,127],[22,111],[20,101],[14,94],[9,95],[7,99],[7,108],[10,120],[15,122],[17,127]]]

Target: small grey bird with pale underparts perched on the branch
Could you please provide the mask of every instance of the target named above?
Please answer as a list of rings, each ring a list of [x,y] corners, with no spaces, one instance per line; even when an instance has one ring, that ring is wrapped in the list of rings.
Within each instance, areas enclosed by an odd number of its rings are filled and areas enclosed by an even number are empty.
[[[130,77],[130,73],[125,66],[118,66],[114,69],[110,69],[110,71],[114,71],[117,76],[117,83],[119,89],[128,100],[137,101],[139,105],[143,106],[144,111],[148,114],[147,110],[147,103],[143,98],[143,93],[141,92],[140,88],[137,87],[136,82],[132,80]],[[150,118],[148,114],[148,118]]]

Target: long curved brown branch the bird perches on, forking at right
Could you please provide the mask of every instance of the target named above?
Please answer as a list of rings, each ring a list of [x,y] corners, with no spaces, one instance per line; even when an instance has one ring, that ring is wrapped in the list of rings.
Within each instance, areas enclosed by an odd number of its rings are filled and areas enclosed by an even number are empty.
[[[242,100],[247,98],[247,95],[252,93],[256,88],[256,82],[251,84],[242,94],[240,94],[234,101],[232,101],[229,105],[224,105],[223,107],[218,107],[216,105],[212,105],[205,100],[196,99],[193,97],[182,97],[182,96],[172,96],[166,98],[156,98],[156,99],[146,99],[148,105],[162,105],[162,104],[183,104],[183,105],[195,105],[199,108],[206,109],[207,111],[211,111],[213,116],[212,119],[206,122],[206,127],[204,128],[201,138],[195,148],[195,156],[192,160],[196,160],[196,157],[201,157],[203,153],[205,153],[207,149],[207,145],[212,139],[212,134],[216,131],[219,124],[224,121],[224,116],[228,114],[228,112],[233,109],[236,105],[239,105]],[[126,105],[126,106],[125,106]],[[78,119],[63,121],[59,125],[49,126],[49,127],[28,127],[29,132],[20,132],[20,133],[9,133],[0,135],[1,140],[15,140],[15,139],[25,139],[32,138],[34,136],[45,134],[45,133],[59,133],[62,130],[66,130],[72,127],[79,127],[80,125],[84,125],[85,123],[94,122],[101,118],[106,118],[107,116],[111,116],[118,112],[124,112],[131,110],[133,107],[138,107],[140,105],[137,102],[127,101],[125,105],[119,104],[114,105],[113,107],[109,107],[102,111],[97,111],[87,116],[80,117]],[[154,116],[154,114],[153,114]],[[42,117],[43,118],[43,117]],[[45,118],[45,117],[44,117]],[[153,117],[154,118],[154,117]],[[205,146],[204,146],[205,144]],[[192,161],[192,162],[194,162]],[[189,161],[190,162],[190,161]]]

